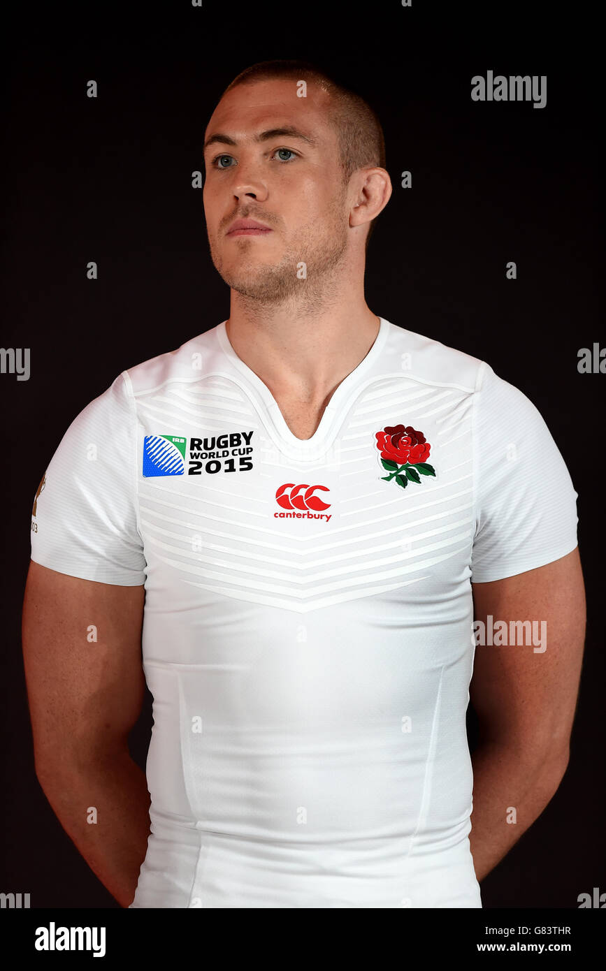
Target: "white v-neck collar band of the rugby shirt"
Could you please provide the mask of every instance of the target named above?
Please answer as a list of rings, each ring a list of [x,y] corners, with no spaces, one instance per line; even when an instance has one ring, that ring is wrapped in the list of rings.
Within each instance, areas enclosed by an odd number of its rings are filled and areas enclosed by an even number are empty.
[[[385,343],[387,341],[387,334],[389,331],[389,321],[383,317],[379,318],[379,333],[375,338],[374,344],[370,348],[370,351],[366,356],[359,362],[357,367],[354,368],[350,374],[343,379],[340,385],[334,391],[330,401],[326,405],[322,417],[320,419],[320,424],[314,432],[311,438],[301,439],[293,435],[286,420],[280,411],[278,402],[274,398],[273,394],[269,390],[268,386],[261,381],[261,379],[256,375],[252,368],[242,360],[241,357],[234,351],[227,336],[227,328],[225,324],[226,320],[219,323],[217,328],[217,336],[219,339],[219,345],[221,350],[225,353],[231,363],[248,379],[249,383],[253,385],[258,397],[261,399],[265,410],[270,419],[270,423],[273,426],[273,435],[276,444],[280,449],[291,458],[318,458],[320,455],[326,451],[331,441],[331,432],[335,430],[335,422],[339,417],[340,408],[343,402],[351,394],[354,385],[357,385],[360,378],[368,371],[368,369],[375,363],[377,357],[383,351]],[[272,429],[269,429],[272,430]]]

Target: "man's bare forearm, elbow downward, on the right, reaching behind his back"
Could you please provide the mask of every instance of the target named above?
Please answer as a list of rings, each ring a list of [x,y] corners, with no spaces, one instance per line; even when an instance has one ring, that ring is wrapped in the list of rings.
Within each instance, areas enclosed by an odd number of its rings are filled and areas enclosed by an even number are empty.
[[[528,753],[511,742],[485,742],[471,761],[469,842],[476,877],[482,881],[554,796],[566,770],[567,753]]]

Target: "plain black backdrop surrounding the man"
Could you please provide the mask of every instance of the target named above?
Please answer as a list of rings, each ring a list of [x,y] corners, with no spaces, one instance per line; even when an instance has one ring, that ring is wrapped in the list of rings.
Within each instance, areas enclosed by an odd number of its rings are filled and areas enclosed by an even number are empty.
[[[490,12],[487,8],[494,7]],[[370,244],[370,309],[476,357],[546,419],[579,493],[589,603],[570,765],[482,884],[485,908],[577,908],[606,891],[603,387],[577,352],[606,334],[597,27],[582,4],[160,3],[27,6],[3,50],[3,791],[0,890],[32,907],[118,907],[54,817],[33,769],[20,612],[36,488],[70,422],[119,372],[228,316],[208,250],[204,129],[223,87],[274,57],[316,61],[381,117],[393,194]],[[547,106],[475,103],[471,78],[547,75]],[[97,81],[96,99],[86,82]],[[413,188],[400,187],[410,170]],[[95,260],[99,279],[88,281]],[[518,279],[507,280],[514,260]],[[528,474],[540,470],[528,470]],[[470,744],[475,720],[469,713]],[[132,734],[145,766],[151,706]]]

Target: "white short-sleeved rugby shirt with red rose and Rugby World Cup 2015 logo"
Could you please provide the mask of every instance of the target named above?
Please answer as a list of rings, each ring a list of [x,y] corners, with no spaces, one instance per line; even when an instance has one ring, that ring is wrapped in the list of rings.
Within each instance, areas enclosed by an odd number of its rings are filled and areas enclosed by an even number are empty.
[[[31,558],[146,587],[131,907],[481,907],[470,581],[571,552],[576,498],[520,390],[385,318],[305,441],[225,321],[118,375],[50,460]]]

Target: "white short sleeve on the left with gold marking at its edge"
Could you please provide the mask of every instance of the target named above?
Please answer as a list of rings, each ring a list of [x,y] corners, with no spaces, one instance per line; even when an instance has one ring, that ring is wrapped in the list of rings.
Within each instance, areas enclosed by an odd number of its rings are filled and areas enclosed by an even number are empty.
[[[34,497],[31,558],[83,580],[142,586],[136,419],[120,374],[63,435]]]

